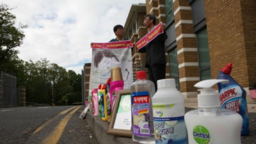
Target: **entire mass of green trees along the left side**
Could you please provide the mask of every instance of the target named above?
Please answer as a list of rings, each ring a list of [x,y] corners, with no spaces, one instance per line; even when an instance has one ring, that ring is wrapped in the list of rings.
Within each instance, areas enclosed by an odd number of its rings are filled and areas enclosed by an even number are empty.
[[[0,4],[0,72],[17,77],[17,86],[26,86],[26,101],[55,105],[81,102],[81,75],[50,63],[46,58],[33,62],[20,60],[14,47],[22,44],[26,28],[19,24],[6,4]],[[63,99],[68,101],[64,102]],[[53,101],[54,100],[54,101]]]

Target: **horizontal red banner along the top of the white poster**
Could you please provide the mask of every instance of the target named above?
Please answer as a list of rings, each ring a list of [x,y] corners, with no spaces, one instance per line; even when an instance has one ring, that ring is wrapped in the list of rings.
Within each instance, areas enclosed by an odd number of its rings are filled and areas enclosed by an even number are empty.
[[[122,49],[132,46],[133,44],[129,40],[108,43],[92,43],[92,49]]]

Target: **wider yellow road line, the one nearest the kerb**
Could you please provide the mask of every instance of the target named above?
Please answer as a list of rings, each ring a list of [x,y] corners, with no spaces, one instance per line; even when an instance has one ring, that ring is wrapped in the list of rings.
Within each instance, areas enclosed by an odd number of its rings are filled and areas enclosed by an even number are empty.
[[[68,120],[71,118],[71,116],[80,108],[81,106],[77,107],[68,115],[66,115],[60,122],[60,124],[57,125],[57,127],[54,129],[54,131],[49,135],[41,144],[56,144],[58,140],[60,140],[60,137],[65,129],[65,127],[68,124]]]

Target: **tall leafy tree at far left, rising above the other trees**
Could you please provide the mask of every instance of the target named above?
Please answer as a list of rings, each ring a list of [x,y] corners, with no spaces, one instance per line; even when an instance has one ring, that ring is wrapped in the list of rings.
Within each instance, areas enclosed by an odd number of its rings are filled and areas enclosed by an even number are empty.
[[[17,55],[17,50],[14,47],[18,47],[22,44],[22,40],[25,37],[22,29],[28,26],[19,24],[16,28],[16,17],[10,10],[7,4],[0,4],[0,66],[4,64],[10,65],[9,61],[12,61],[13,56]]]

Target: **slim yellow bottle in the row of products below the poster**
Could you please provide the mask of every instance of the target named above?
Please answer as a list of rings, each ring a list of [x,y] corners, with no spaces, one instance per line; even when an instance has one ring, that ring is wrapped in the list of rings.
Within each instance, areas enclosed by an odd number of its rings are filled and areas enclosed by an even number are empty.
[[[107,102],[106,102],[106,84],[102,85],[100,90],[100,100],[101,100],[101,111],[102,111],[102,120],[108,121],[108,109],[107,109]]]

